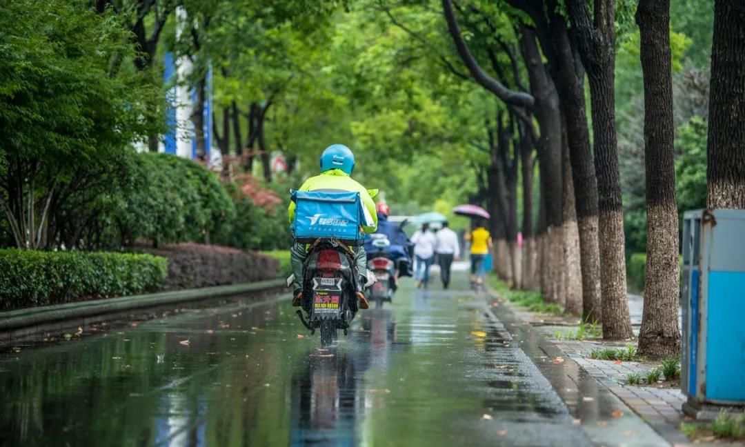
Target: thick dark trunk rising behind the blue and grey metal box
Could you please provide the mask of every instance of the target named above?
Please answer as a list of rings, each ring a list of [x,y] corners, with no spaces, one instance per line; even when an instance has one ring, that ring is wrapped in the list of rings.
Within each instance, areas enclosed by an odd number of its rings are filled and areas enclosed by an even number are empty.
[[[745,209],[745,3],[714,1],[708,194],[711,209]]]

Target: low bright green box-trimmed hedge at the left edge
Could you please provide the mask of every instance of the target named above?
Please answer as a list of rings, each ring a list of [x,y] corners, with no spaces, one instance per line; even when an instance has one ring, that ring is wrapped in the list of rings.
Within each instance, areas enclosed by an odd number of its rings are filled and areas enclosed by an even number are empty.
[[[0,309],[157,291],[167,271],[148,254],[0,250]]]

